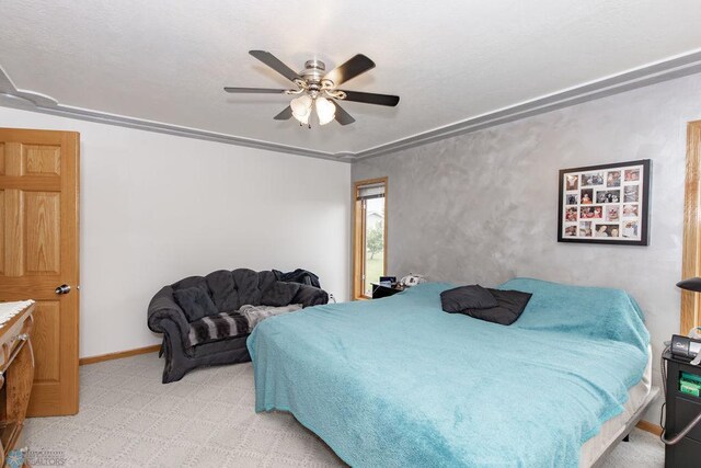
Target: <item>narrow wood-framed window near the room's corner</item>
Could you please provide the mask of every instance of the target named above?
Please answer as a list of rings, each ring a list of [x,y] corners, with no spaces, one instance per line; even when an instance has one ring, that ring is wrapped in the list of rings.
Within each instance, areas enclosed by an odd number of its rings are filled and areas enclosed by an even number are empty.
[[[355,183],[353,297],[372,296],[387,270],[387,178]]]

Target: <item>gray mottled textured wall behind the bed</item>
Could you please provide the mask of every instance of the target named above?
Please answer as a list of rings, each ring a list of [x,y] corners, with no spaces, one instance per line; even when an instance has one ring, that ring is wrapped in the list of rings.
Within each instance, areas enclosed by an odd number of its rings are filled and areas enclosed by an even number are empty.
[[[389,274],[627,289],[645,312],[658,385],[662,343],[679,330],[686,125],[699,118],[694,75],[357,161],[353,179],[389,176]],[[559,243],[558,171],[635,159],[653,161],[650,246]]]

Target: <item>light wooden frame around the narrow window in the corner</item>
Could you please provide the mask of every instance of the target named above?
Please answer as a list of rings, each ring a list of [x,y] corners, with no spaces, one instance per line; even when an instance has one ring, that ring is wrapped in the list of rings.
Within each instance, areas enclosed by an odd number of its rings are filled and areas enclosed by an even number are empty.
[[[365,295],[365,236],[366,236],[366,204],[358,199],[360,187],[366,185],[384,185],[384,218],[383,218],[383,239],[382,239],[382,271],[387,274],[387,197],[389,192],[388,178],[365,179],[353,183],[353,300],[370,299]]]

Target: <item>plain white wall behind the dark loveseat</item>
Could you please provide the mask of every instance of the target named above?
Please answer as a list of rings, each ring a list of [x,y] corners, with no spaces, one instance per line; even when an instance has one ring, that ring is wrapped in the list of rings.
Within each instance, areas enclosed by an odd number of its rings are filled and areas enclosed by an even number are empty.
[[[80,356],[159,343],[149,300],[189,275],[303,267],[348,297],[347,163],[7,107],[0,126],[80,132]]]

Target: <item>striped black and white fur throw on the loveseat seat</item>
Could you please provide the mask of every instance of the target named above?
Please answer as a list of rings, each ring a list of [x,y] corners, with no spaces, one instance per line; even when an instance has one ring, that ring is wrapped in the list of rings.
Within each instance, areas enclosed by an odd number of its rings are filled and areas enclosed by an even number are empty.
[[[187,341],[192,347],[227,338],[243,336],[251,333],[256,324],[268,317],[292,312],[301,308],[301,304],[290,304],[284,307],[245,305],[231,312],[203,317],[189,324]]]

